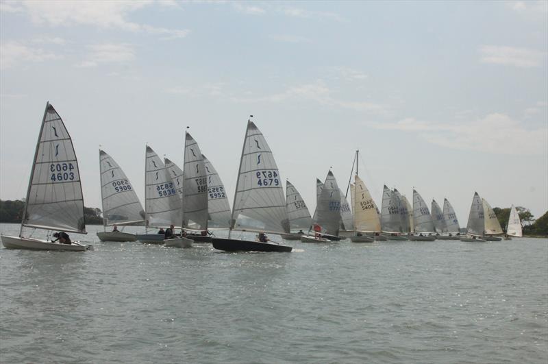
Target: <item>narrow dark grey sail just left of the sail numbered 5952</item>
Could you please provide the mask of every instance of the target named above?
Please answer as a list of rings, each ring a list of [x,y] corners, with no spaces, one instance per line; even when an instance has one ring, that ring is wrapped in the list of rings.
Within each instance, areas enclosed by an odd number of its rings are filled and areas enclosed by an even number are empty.
[[[183,215],[184,226],[208,228],[208,172],[198,143],[187,132],[184,143]]]

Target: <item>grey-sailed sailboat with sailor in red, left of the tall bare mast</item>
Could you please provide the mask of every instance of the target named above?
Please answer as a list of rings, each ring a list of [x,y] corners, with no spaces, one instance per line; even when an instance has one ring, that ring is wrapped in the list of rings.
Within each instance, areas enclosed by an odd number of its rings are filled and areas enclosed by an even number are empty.
[[[303,243],[327,243],[339,241],[340,228],[340,189],[332,171],[327,177],[318,198],[318,204],[312,220],[314,233],[301,236]]]

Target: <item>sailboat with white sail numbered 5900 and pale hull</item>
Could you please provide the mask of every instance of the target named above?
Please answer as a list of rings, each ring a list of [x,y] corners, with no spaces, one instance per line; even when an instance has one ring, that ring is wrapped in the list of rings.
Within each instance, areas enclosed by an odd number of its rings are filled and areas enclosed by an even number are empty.
[[[145,210],[137,193],[118,163],[99,149],[101,170],[101,198],[103,202],[103,232],[97,232],[101,241],[135,241],[136,235],[123,231],[106,231],[107,226],[125,226],[143,223]]]

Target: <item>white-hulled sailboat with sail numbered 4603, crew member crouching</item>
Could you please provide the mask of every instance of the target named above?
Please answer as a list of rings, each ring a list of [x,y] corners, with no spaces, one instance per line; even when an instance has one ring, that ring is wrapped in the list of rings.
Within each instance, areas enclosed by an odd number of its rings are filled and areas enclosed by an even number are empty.
[[[92,245],[53,243],[23,236],[23,228],[87,234],[82,183],[73,141],[49,102],[38,134],[19,235],[1,235],[0,239],[8,249],[92,250]]]

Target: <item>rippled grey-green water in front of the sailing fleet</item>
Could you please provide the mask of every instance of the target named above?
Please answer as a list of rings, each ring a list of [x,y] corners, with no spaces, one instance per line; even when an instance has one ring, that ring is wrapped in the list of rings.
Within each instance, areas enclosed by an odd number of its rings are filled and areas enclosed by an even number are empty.
[[[1,362],[548,360],[547,239],[227,254],[98,229],[94,252],[0,249]]]

